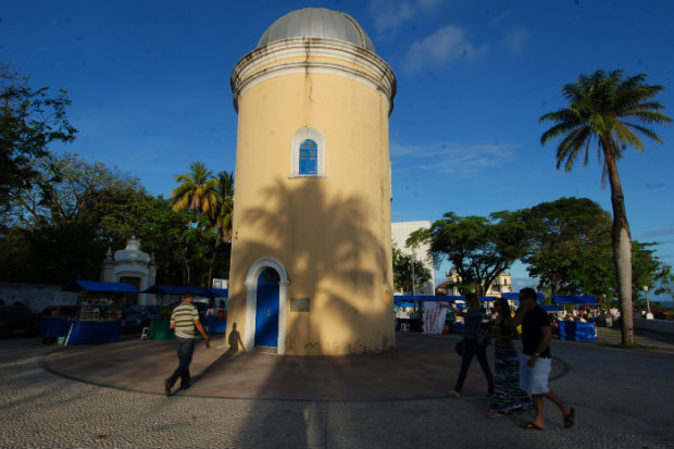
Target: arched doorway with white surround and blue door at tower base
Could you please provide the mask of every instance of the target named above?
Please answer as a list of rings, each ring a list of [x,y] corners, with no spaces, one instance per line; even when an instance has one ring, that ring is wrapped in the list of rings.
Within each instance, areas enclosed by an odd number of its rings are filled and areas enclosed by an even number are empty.
[[[276,353],[286,353],[286,294],[288,290],[288,273],[285,266],[274,258],[261,258],[254,261],[246,275],[246,329],[244,332],[244,347],[251,350],[255,346],[276,348]],[[258,294],[258,289],[261,292]],[[258,302],[260,301],[260,307]],[[261,322],[265,321],[267,310],[265,303],[276,304],[276,327],[265,327]],[[260,316],[258,320],[258,314]],[[269,317],[273,315],[270,307]],[[260,323],[259,323],[260,322]],[[258,328],[260,326],[260,328]],[[260,330],[263,336],[258,338]],[[266,334],[266,337],[264,337]],[[271,341],[276,336],[275,341]],[[263,342],[264,341],[264,342]]]

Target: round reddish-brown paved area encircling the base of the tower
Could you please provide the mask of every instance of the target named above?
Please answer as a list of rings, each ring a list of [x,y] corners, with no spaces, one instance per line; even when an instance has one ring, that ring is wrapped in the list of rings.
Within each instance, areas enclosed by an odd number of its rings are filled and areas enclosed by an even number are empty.
[[[213,339],[210,349],[200,340],[190,366],[192,386],[176,394],[338,401],[444,398],[444,390],[453,388],[461,361],[452,350],[459,339],[399,334],[395,351],[345,357],[233,352],[222,339]],[[48,370],[73,379],[163,395],[164,379],[177,364],[174,346],[173,341],[138,339],[108,347],[58,348],[43,362]],[[494,350],[488,353],[491,357]],[[487,391],[477,361],[474,364],[464,396]],[[552,376],[563,371],[563,362],[553,360]]]

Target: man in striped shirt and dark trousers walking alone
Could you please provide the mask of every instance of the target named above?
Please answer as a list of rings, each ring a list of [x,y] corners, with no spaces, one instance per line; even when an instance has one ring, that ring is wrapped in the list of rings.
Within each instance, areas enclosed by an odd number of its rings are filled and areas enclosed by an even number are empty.
[[[178,367],[164,381],[164,392],[166,396],[171,396],[171,388],[173,388],[178,377],[180,377],[180,388],[189,388],[189,364],[192,361],[192,353],[195,352],[195,326],[199,329],[199,333],[203,335],[207,341],[207,348],[209,347],[210,338],[205,335],[203,326],[199,321],[199,311],[195,304],[192,304],[194,300],[195,295],[189,291],[186,292],[183,297],[183,302],[178,304],[171,314],[171,328],[175,329],[175,340],[178,349]]]

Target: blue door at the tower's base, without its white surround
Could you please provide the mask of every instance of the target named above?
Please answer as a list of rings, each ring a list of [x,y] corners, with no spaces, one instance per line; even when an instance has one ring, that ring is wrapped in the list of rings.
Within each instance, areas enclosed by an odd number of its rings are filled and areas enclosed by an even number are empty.
[[[255,346],[278,346],[278,280],[274,269],[266,269],[258,278]]]

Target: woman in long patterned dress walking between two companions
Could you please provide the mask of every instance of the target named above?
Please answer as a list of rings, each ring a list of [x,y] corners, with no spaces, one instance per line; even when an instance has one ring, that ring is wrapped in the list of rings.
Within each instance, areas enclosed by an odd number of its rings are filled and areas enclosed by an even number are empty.
[[[520,358],[512,344],[520,335],[508,300],[497,298],[494,308],[496,320],[491,323],[489,336],[494,338],[496,385],[489,403],[489,417],[531,410],[534,407],[529,395],[520,389]]]

